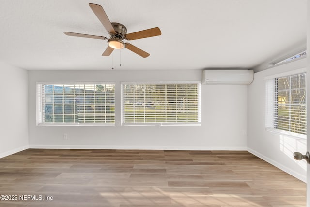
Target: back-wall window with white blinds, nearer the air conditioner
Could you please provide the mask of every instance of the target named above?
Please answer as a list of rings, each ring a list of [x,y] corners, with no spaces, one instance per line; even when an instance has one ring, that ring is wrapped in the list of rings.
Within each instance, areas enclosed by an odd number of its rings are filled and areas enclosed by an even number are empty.
[[[122,85],[123,124],[201,124],[201,84]]]

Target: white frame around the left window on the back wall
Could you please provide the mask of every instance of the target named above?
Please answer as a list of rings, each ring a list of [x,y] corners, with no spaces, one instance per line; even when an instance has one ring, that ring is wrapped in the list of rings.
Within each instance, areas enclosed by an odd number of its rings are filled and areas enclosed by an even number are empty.
[[[114,122],[111,123],[79,123],[79,122],[40,122],[44,119],[44,103],[43,103],[43,91],[44,85],[114,85]],[[115,113],[115,82],[107,81],[93,81],[93,82],[36,82],[36,125],[37,126],[115,126],[116,125],[116,113]],[[40,96],[39,96],[40,93]]]

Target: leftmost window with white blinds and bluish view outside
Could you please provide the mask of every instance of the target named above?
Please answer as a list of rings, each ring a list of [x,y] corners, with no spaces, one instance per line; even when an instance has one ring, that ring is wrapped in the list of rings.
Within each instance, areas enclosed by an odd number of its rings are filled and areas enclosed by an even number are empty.
[[[115,122],[114,84],[37,84],[39,124]]]

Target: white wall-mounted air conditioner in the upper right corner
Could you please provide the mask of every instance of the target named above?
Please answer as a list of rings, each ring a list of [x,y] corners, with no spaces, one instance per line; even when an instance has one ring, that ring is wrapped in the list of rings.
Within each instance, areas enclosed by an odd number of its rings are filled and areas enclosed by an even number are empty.
[[[203,70],[202,84],[249,85],[253,81],[253,70]]]

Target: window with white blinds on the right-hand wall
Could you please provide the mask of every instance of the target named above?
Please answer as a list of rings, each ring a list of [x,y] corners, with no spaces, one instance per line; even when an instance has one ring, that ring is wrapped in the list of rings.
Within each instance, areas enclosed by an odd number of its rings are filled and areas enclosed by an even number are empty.
[[[269,79],[266,89],[267,127],[306,135],[306,74]]]

